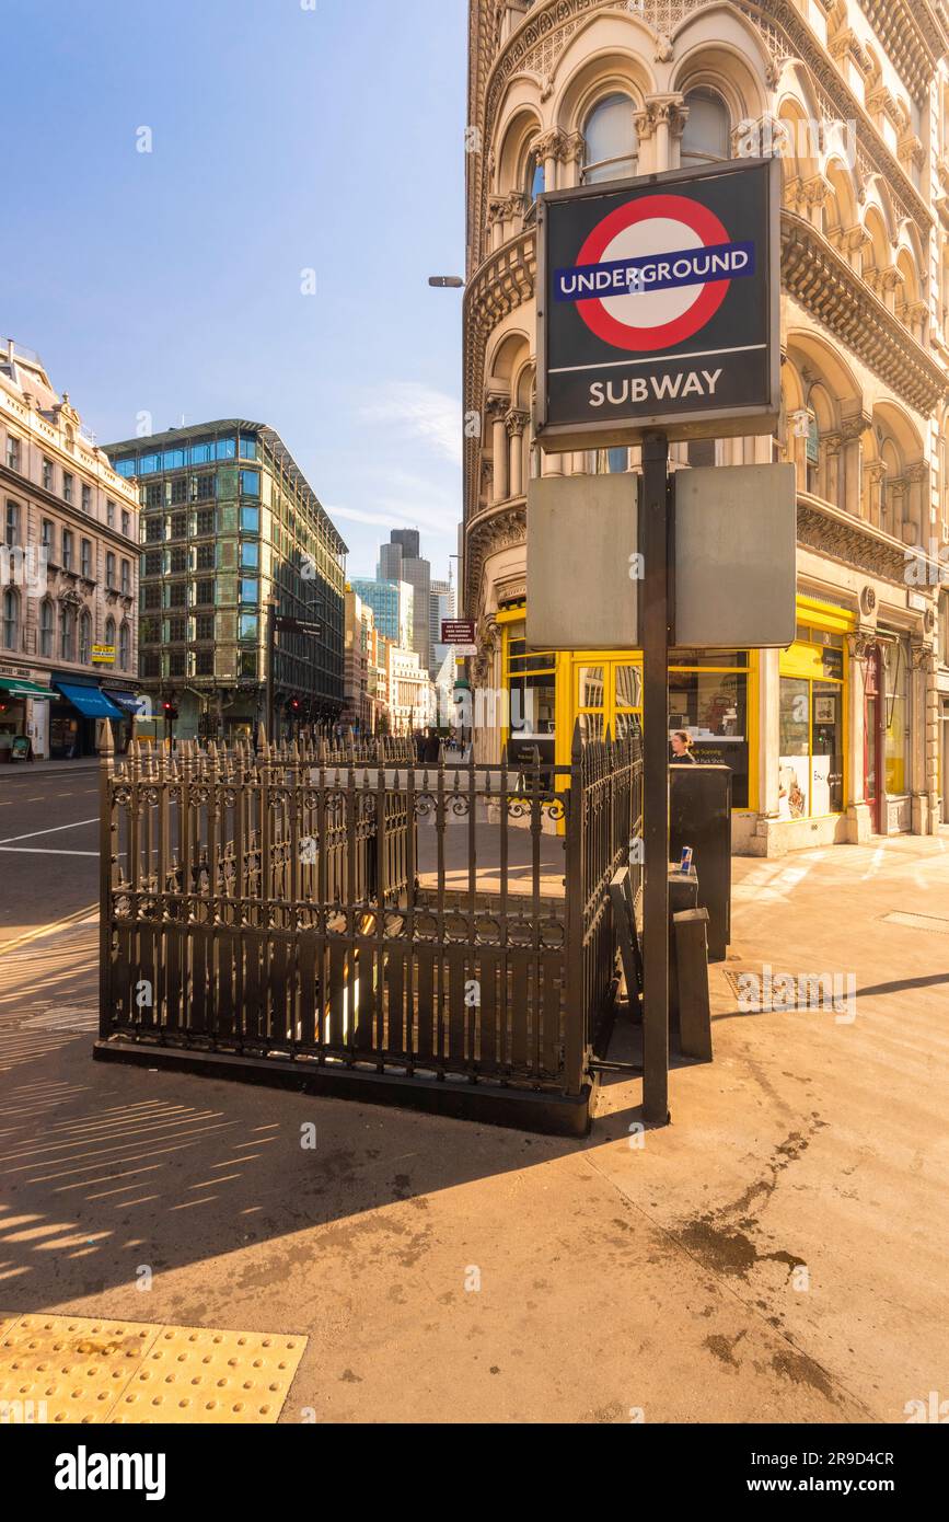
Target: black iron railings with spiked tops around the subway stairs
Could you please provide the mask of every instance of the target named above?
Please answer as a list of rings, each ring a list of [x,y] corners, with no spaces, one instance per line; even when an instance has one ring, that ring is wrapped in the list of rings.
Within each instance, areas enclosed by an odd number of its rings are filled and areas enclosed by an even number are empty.
[[[640,811],[636,737],[106,758],[100,1043],[579,1094]]]

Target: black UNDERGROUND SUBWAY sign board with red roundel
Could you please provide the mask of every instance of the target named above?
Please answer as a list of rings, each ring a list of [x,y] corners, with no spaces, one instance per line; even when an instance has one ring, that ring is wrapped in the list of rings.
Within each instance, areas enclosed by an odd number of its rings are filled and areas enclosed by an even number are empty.
[[[774,429],[779,177],[730,160],[538,198],[541,449]]]

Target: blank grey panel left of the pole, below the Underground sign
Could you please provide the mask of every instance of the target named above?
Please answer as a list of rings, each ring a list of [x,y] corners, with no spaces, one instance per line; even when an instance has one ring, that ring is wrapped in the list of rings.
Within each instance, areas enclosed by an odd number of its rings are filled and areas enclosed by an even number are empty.
[[[535,650],[639,645],[637,504],[630,473],[528,484],[526,638]]]

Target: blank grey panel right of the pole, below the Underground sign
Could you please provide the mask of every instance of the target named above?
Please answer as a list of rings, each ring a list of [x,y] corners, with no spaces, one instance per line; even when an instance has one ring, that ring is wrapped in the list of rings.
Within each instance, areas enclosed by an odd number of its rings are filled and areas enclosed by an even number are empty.
[[[792,644],[794,466],[698,466],[675,490],[675,644]]]

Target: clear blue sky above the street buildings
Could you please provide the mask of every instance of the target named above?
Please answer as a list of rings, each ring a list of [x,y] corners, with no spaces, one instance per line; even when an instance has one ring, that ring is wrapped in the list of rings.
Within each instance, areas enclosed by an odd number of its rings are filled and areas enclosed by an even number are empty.
[[[102,443],[266,422],[351,575],[400,525],[444,575],[461,292],[427,275],[462,272],[467,6],[303,3],[3,0],[0,330]]]

